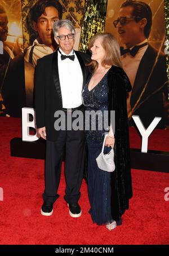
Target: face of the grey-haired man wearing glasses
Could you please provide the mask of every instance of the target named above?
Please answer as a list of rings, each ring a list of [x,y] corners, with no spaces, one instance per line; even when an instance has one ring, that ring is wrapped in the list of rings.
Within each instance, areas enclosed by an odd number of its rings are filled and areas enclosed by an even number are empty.
[[[58,36],[68,36],[73,34],[69,29],[62,27],[58,30]],[[74,36],[72,39],[66,37],[64,40],[61,40],[59,37],[55,38],[57,45],[59,45],[60,49],[65,53],[69,54],[73,50],[74,46]],[[71,37],[71,36],[70,36]]]

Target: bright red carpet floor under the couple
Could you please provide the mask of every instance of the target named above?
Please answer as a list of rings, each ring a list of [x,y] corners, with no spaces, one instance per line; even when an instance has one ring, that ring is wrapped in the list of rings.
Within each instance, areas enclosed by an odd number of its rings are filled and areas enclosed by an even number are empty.
[[[169,201],[164,200],[164,188],[169,187],[169,174],[132,170],[134,197],[130,210],[123,215],[122,226],[112,232],[92,224],[84,181],[79,201],[82,217],[69,216],[63,199],[64,175],[54,214],[43,217],[44,161],[11,157],[10,139],[21,136],[21,120],[1,117],[0,123],[0,187],[4,193],[0,201],[0,244],[168,244]],[[141,141],[134,128],[130,135],[131,146],[139,148]],[[157,130],[150,136],[149,149],[169,151],[168,142],[168,131],[162,135]]]

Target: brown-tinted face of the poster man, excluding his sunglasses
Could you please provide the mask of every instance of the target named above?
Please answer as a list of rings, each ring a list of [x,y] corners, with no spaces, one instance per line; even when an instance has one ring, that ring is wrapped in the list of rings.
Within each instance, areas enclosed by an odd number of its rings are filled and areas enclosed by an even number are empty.
[[[133,7],[127,6],[119,10],[119,17],[133,17]],[[118,19],[117,18],[117,19]],[[118,34],[121,42],[128,47],[132,47],[139,43],[139,39],[143,34],[143,23],[142,21],[136,22],[135,19],[126,19],[125,24],[117,24]]]

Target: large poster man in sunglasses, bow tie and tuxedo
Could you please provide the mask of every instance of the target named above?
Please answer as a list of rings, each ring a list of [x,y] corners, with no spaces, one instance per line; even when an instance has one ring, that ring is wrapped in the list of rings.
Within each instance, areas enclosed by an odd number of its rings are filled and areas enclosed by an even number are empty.
[[[154,117],[162,117],[158,128],[168,123],[168,86],[166,56],[148,43],[152,28],[152,11],[145,2],[125,1],[114,21],[121,47],[123,69],[130,78],[132,91],[128,94],[128,117],[138,115],[147,128]],[[130,124],[133,122],[131,120]]]

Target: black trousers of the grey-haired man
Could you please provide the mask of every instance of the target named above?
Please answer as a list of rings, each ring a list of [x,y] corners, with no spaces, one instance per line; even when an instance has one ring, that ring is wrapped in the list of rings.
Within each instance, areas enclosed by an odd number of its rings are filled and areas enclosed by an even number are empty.
[[[65,201],[78,202],[81,195],[85,157],[84,131],[60,131],[56,142],[46,141],[45,191],[43,200],[54,203],[59,195],[61,163],[65,153]]]

